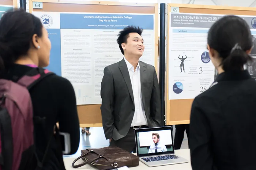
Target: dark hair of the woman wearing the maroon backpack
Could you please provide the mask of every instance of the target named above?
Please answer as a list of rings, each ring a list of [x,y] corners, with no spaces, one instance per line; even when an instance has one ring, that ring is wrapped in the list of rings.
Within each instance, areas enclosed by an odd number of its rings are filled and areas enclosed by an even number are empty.
[[[8,11],[0,20],[0,76],[20,57],[27,55],[34,34],[42,36],[42,23],[25,9]]]

